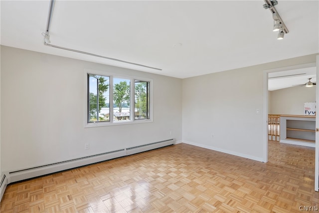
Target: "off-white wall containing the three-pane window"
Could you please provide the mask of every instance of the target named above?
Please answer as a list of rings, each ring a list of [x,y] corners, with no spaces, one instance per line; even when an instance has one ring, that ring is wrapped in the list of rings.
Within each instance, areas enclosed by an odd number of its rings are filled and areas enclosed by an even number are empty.
[[[7,46],[1,62],[2,171],[182,138],[181,79]],[[153,79],[154,122],[84,128],[85,68]]]

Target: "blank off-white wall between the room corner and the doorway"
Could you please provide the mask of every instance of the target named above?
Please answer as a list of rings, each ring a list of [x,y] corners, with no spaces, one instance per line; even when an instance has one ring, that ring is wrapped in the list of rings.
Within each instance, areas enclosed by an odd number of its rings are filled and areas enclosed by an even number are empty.
[[[314,61],[309,55],[183,79],[183,142],[263,161],[264,70]]]

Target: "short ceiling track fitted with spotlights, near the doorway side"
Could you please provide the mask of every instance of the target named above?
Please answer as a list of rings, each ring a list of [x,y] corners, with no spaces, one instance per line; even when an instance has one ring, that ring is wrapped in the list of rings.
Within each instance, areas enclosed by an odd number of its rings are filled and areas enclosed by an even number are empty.
[[[287,28],[287,26],[285,25],[283,19],[280,17],[277,9],[275,8],[275,5],[278,4],[277,0],[264,0],[265,4],[263,5],[263,7],[265,9],[269,9],[273,15],[273,19],[274,19],[274,27],[273,27],[273,31],[279,31],[278,33],[278,37],[277,39],[283,39],[284,35],[289,33],[289,30]]]

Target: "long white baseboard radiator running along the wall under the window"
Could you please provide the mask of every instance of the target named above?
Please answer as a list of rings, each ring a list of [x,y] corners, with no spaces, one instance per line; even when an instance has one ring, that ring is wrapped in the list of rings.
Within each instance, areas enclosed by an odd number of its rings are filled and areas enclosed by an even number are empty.
[[[8,174],[6,177],[7,184],[22,181],[22,180],[27,180],[27,179],[31,179],[31,178],[35,178],[35,177],[39,177],[43,175],[48,175],[51,173],[56,173],[56,172],[60,172],[60,171],[68,170],[68,169],[73,169],[76,167],[81,167],[81,166],[85,166],[89,164],[94,164],[94,163],[98,163],[102,161],[107,161],[114,158],[133,155],[136,153],[145,152],[145,151],[149,151],[149,150],[153,150],[153,149],[157,149],[157,148],[161,148],[161,147],[165,147],[165,146],[169,146],[173,144],[175,144],[175,140],[169,139],[169,140],[150,143],[150,144],[146,144],[142,146],[130,147],[130,148],[116,150],[112,152],[87,156],[83,158],[77,158],[73,160],[62,161],[62,162],[57,162],[53,164],[48,164],[48,165],[18,170],[18,171],[11,171],[7,173]]]

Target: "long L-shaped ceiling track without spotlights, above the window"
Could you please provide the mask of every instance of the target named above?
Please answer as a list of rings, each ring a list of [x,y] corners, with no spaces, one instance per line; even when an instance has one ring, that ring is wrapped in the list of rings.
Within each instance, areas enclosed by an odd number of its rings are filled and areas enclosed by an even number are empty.
[[[141,67],[145,67],[145,68],[162,70],[162,69],[156,68],[156,67],[146,66],[146,65],[143,65],[143,64],[133,63],[133,62],[124,61],[124,60],[120,60],[120,59],[116,59],[116,58],[106,57],[106,56],[103,56],[103,55],[97,55],[97,54],[93,54],[93,53],[89,53],[89,52],[84,52],[84,51],[80,51],[80,50],[76,50],[76,49],[70,49],[70,48],[66,48],[66,47],[50,44],[50,42],[51,42],[50,41],[50,25],[51,25],[51,20],[52,20],[52,15],[53,15],[54,1],[55,0],[51,0],[50,1],[48,20],[47,20],[47,23],[46,23],[46,30],[45,30],[45,33],[44,32],[42,33],[42,35],[44,36],[44,45],[50,46],[50,47],[55,47],[55,48],[58,48],[58,49],[64,49],[64,50],[68,50],[68,51],[72,51],[72,52],[77,52],[77,53],[81,53],[81,54],[91,55],[91,56],[95,56],[95,57],[105,58],[105,59],[108,59],[108,60],[114,60],[114,61],[118,61],[118,62],[128,63],[128,64],[141,66]]]

